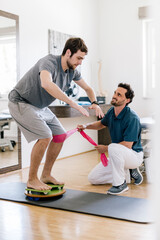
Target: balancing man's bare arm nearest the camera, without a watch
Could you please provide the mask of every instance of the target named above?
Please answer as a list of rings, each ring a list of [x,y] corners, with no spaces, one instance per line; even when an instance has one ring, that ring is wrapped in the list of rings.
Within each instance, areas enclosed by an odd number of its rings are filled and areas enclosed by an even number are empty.
[[[84,109],[82,106],[76,104],[74,101],[72,101],[69,97],[67,97],[63,91],[55,84],[52,82],[52,77],[51,74],[43,70],[40,73],[40,80],[41,80],[41,86],[44,88],[51,96],[53,96],[56,99],[59,99],[61,101],[66,102],[69,104],[71,107],[75,108],[78,110],[81,114],[85,116],[89,116],[89,113]]]

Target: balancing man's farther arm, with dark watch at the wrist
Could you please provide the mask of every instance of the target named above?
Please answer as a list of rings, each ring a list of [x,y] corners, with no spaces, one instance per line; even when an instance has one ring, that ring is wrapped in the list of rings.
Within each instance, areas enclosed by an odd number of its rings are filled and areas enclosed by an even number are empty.
[[[81,88],[83,88],[85,90],[85,92],[87,93],[87,96],[89,97],[91,103],[96,101],[96,96],[95,96],[95,93],[94,93],[93,89],[83,79],[80,79],[80,80],[75,81],[75,82],[78,86],[80,86]],[[95,109],[97,117],[99,117],[99,118],[104,117],[104,113],[102,112],[101,108],[97,104],[92,104],[89,107],[89,109]]]

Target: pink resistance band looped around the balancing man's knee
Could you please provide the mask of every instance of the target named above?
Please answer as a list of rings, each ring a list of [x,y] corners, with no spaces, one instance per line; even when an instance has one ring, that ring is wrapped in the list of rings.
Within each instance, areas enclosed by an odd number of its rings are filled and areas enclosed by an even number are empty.
[[[73,133],[77,132],[78,131],[78,128],[75,128],[75,129],[72,129],[72,130],[69,130],[67,131],[67,133],[64,133],[64,134],[60,134],[60,135],[55,135],[53,136],[53,139],[52,141],[53,142],[56,142],[56,143],[60,143],[60,142],[64,142],[68,137],[70,137]],[[92,145],[94,146],[97,146],[97,143],[95,143],[93,141],[92,138],[90,138],[83,130],[80,131],[80,134],[88,140],[88,142],[90,142]],[[101,162],[103,164],[103,166],[107,166],[108,165],[108,159],[106,157],[106,155],[104,153],[101,153]]]

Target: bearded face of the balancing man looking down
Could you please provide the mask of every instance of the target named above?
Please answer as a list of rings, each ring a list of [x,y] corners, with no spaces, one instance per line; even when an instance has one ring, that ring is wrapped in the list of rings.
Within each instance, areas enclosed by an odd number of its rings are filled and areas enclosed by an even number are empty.
[[[74,70],[76,67],[82,64],[82,61],[84,60],[86,53],[78,50],[71,56],[71,51],[69,49],[67,51],[68,51],[67,66],[68,68]]]

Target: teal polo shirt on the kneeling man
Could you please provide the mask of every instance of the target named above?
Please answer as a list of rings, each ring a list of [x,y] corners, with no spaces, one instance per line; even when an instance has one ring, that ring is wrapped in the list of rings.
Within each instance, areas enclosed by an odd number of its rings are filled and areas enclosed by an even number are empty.
[[[111,107],[101,123],[108,127],[112,143],[133,142],[132,149],[134,151],[143,151],[140,120],[129,107],[125,106],[117,117],[114,113],[114,107]]]

